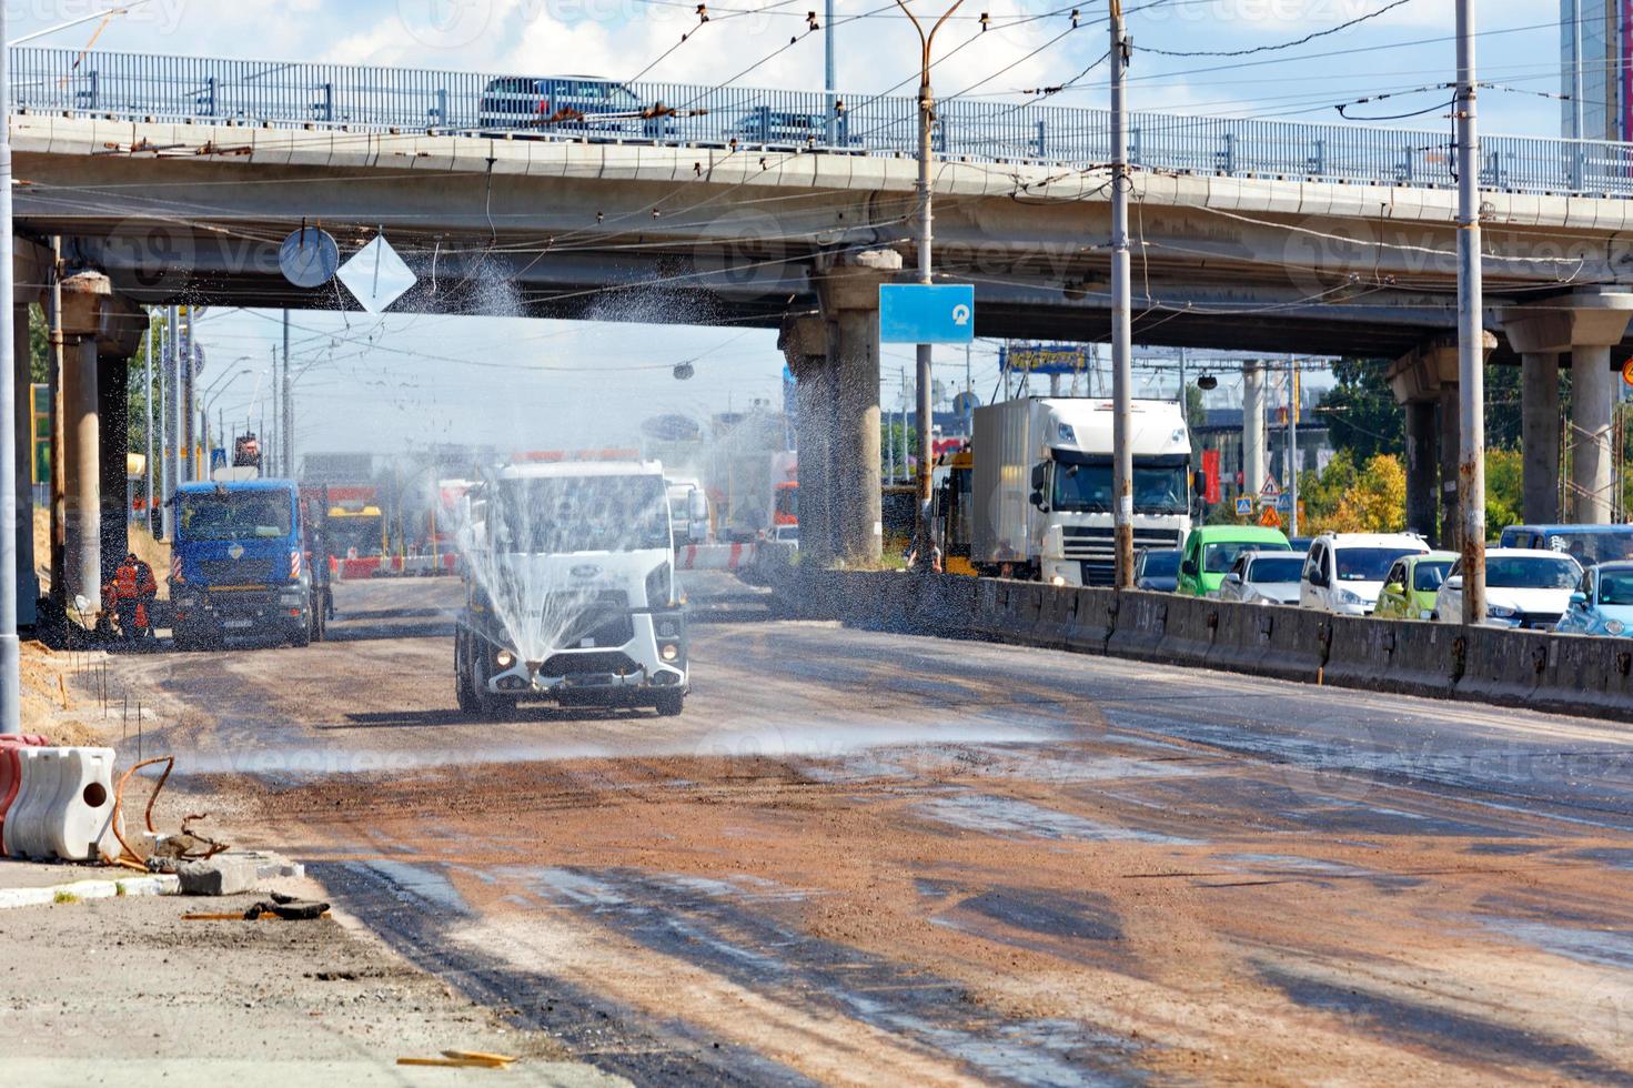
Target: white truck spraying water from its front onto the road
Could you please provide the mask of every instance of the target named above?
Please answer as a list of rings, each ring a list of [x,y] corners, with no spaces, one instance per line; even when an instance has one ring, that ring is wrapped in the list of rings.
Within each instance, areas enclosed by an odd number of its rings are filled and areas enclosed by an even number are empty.
[[[686,616],[661,464],[509,464],[462,506],[462,711],[498,716],[545,699],[681,712]]]

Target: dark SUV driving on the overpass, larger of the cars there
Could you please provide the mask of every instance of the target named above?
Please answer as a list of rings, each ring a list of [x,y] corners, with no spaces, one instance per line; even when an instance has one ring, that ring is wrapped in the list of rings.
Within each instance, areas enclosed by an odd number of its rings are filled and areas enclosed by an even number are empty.
[[[537,132],[590,139],[670,139],[674,118],[643,118],[643,101],[617,80],[594,75],[508,75],[482,88],[477,126],[485,134]]]

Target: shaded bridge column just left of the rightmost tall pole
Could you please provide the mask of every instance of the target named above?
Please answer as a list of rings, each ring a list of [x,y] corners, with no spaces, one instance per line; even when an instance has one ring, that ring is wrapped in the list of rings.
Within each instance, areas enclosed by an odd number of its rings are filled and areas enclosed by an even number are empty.
[[[1486,333],[1484,354],[1497,348],[1497,338]],[[1406,405],[1406,528],[1422,533],[1439,547],[1457,547],[1457,337],[1429,340],[1390,364],[1390,387]],[[1435,446],[1439,431],[1439,480],[1435,479]],[[1416,464],[1414,464],[1416,457]],[[1437,493],[1439,492],[1439,493]],[[1440,510],[1435,528],[1434,511]]]

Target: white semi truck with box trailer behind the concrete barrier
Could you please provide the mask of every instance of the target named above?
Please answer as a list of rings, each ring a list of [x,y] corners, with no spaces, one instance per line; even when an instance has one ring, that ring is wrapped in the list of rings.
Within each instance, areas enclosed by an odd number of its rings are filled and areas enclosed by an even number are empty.
[[[1177,404],[1135,400],[1133,546],[1190,533],[1190,433]],[[1027,397],[975,410],[970,562],[977,573],[1112,585],[1112,405]]]

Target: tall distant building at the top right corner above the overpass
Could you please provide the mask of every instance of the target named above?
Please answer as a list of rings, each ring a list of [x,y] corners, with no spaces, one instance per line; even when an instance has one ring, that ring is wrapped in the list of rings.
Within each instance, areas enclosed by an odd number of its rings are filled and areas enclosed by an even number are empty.
[[[1633,132],[1633,0],[1560,0],[1560,134],[1626,140]]]

